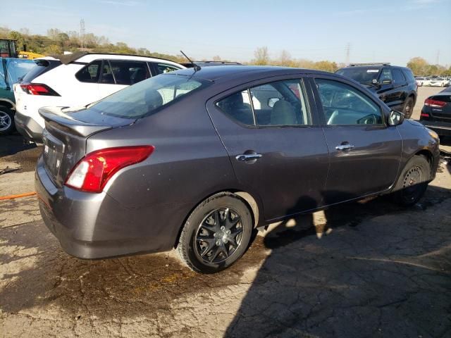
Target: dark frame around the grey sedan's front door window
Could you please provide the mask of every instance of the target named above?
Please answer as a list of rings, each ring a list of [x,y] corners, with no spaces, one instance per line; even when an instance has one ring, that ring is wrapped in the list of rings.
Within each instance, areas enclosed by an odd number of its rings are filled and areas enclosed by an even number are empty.
[[[348,86],[352,87],[352,89],[356,90],[357,92],[361,93],[363,96],[365,96],[371,102],[373,102],[373,104],[378,106],[378,108],[379,108],[379,110],[381,112],[382,124],[377,124],[377,125],[328,125],[327,121],[326,121],[326,113],[324,112],[323,104],[321,102],[321,97],[319,96],[318,87],[316,86],[316,82],[315,82],[316,79],[329,80],[329,81],[335,81],[335,82],[344,83],[344,84],[347,84]],[[350,82],[347,82],[346,80],[342,80],[342,79],[337,80],[334,77],[314,75],[313,77],[311,77],[311,90],[314,93],[316,110],[318,111],[319,119],[321,120],[321,125],[320,125],[321,127],[362,127],[362,126],[366,126],[366,127],[388,127],[387,121],[386,121],[387,116],[385,114],[385,109],[383,108],[383,106],[381,106],[381,104],[379,104],[375,99],[373,99],[373,97],[371,97],[370,95],[362,92],[362,90],[360,90],[359,88],[355,87],[354,84],[352,84]]]

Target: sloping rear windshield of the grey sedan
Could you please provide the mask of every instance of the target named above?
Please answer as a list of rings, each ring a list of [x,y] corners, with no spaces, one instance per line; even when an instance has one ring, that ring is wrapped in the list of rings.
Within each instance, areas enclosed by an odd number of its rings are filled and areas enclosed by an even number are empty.
[[[158,75],[107,96],[87,110],[116,118],[144,118],[210,83],[185,75]]]

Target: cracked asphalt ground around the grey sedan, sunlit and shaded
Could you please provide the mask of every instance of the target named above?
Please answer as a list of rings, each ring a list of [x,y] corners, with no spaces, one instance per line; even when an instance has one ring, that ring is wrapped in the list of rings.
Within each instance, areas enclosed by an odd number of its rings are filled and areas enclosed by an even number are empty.
[[[0,158],[27,168],[0,175],[1,196],[32,191],[38,153]],[[0,337],[451,337],[447,158],[439,171],[413,208],[383,197],[271,225],[216,275],[174,252],[78,260],[34,196],[0,201]]]

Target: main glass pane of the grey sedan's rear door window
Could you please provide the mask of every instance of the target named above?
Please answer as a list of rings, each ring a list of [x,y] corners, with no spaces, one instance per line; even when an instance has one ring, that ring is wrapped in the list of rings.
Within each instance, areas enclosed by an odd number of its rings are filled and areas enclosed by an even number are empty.
[[[271,82],[250,92],[257,125],[311,124],[302,80]]]

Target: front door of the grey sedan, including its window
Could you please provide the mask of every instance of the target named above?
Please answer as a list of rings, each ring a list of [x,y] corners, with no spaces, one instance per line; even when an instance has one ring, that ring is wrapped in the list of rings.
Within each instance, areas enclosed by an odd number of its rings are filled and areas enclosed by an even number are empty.
[[[397,128],[386,124],[386,107],[350,82],[332,77],[314,82],[330,154],[325,203],[388,189],[400,168],[402,141]]]

